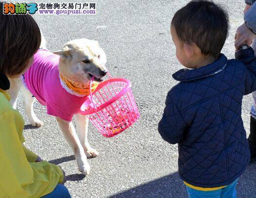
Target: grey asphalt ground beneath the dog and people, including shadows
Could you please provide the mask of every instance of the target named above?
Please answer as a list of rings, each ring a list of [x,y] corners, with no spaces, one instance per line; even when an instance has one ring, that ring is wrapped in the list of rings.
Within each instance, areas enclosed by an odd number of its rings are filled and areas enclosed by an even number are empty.
[[[40,2],[43,1],[47,2]],[[107,54],[110,73],[132,82],[141,118],[132,128],[110,139],[89,126],[89,141],[100,156],[89,159],[91,174],[84,177],[78,172],[56,120],[47,116],[45,107],[36,102],[35,112],[45,125],[31,127],[20,96],[18,110],[26,123],[25,144],[43,159],[63,167],[66,186],[74,198],[186,198],[185,186],[177,173],[177,145],[161,139],[157,124],[167,92],[177,83],[171,74],[182,68],[175,58],[170,21],[188,0],[95,1],[94,16],[35,15],[35,18],[52,51],[68,40],[98,40]],[[235,28],[243,22],[244,1],[214,1],[228,10],[231,28],[223,53],[234,58],[233,38]],[[244,97],[242,117],[247,133],[251,105],[251,95]],[[252,164],[238,182],[238,197],[256,198],[255,186],[256,164]]]

